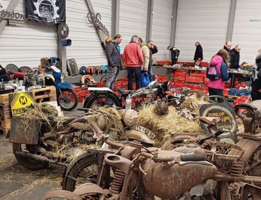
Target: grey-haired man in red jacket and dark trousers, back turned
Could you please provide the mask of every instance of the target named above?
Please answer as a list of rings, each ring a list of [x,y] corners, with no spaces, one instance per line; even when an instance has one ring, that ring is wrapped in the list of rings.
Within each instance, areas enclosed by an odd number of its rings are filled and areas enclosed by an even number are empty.
[[[135,74],[136,89],[139,89],[142,84],[141,66],[143,65],[143,53],[137,35],[133,35],[132,41],[125,46],[122,59],[127,66],[128,89],[133,89],[133,74]]]

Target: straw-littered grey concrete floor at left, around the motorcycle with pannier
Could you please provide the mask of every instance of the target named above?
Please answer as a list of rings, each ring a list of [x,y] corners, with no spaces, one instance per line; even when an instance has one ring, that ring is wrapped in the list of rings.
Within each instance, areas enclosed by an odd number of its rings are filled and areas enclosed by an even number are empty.
[[[81,107],[79,103],[78,107]],[[76,117],[84,113],[77,109],[64,111]],[[0,200],[40,200],[54,188],[61,188],[63,168],[49,166],[45,170],[27,169],[16,160],[12,144],[0,134]]]

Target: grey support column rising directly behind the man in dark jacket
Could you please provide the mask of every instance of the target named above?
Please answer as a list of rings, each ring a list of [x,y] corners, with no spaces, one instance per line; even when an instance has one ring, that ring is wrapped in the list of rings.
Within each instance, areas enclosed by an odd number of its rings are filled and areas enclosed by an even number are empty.
[[[111,0],[111,37],[119,33],[119,5],[120,0]]]

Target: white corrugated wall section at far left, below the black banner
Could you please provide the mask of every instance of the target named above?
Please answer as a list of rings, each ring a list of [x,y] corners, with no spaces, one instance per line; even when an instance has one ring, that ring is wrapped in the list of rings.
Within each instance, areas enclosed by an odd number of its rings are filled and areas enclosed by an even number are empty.
[[[11,0],[2,0],[7,9]],[[15,12],[25,14],[25,0],[20,0]],[[37,67],[42,57],[57,56],[56,25],[12,21],[0,34],[0,64]]]

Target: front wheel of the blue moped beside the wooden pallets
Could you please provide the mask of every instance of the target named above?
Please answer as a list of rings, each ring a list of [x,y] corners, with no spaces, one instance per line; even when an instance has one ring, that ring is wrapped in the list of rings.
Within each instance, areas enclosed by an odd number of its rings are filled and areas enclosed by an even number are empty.
[[[72,110],[78,104],[78,97],[76,93],[68,88],[61,89],[58,95],[58,103],[63,110]]]

